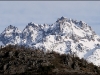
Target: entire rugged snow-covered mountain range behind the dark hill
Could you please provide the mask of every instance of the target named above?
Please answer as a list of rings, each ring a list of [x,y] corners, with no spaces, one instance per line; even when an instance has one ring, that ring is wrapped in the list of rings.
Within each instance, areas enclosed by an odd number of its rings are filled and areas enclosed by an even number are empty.
[[[0,44],[74,54],[100,66],[100,37],[85,22],[65,17],[51,25],[28,23],[23,31],[10,25],[1,33]]]

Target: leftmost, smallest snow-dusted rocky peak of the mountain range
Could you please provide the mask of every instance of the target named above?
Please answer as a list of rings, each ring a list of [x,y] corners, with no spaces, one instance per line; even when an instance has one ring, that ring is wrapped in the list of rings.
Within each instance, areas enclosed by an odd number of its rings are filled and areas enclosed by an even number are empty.
[[[17,27],[9,25],[0,35],[0,40],[4,45],[19,44],[21,37],[21,31]]]

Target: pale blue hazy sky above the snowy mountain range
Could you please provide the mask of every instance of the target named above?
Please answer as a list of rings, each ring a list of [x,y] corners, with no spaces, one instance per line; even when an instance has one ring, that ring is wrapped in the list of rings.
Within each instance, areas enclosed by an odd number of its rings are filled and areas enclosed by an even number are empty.
[[[82,20],[100,35],[100,1],[0,1],[0,33],[9,25],[23,30],[29,22],[52,24],[62,16]]]

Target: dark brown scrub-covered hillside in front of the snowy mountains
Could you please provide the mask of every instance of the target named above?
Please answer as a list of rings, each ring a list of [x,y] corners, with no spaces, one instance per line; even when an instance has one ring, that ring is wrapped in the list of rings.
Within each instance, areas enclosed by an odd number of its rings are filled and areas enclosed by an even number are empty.
[[[9,45],[0,49],[0,75],[100,75],[100,67],[69,54]]]

